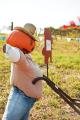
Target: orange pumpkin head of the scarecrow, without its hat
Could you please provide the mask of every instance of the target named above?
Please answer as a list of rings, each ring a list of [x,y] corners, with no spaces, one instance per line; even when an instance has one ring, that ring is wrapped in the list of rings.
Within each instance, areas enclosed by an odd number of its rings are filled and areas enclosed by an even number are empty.
[[[35,41],[28,34],[22,31],[14,30],[7,38],[7,44],[20,49],[26,49],[31,52],[35,47]]]

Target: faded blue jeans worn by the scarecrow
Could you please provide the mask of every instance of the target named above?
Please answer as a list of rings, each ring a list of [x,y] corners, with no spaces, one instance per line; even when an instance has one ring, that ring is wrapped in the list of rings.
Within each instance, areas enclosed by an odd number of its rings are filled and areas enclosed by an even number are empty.
[[[28,120],[29,112],[35,102],[35,98],[28,97],[20,89],[13,86],[2,120]]]

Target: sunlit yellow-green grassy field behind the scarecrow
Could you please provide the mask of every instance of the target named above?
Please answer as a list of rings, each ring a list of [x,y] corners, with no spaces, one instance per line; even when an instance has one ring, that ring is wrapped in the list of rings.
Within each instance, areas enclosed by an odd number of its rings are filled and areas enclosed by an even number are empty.
[[[2,53],[0,41],[0,120],[10,90],[10,61]],[[32,53],[36,63],[46,75],[46,65],[41,50],[43,43],[37,43]],[[49,63],[49,78],[73,98],[80,99],[80,43],[65,39],[53,40],[52,63]],[[42,99],[32,108],[30,120],[80,120],[80,116],[43,82]]]

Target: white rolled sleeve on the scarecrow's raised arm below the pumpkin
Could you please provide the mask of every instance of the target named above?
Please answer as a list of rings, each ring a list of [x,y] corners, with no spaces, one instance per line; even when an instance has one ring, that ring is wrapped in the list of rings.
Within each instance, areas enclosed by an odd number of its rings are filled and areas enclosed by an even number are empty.
[[[20,60],[20,51],[16,47],[12,47],[9,44],[6,44],[5,55],[11,62],[18,62]]]

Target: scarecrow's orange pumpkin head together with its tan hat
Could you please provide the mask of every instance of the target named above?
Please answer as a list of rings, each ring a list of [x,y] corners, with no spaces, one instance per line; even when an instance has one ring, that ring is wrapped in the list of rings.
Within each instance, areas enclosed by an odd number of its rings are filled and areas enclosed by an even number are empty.
[[[35,47],[35,30],[36,27],[30,23],[25,24],[24,27],[15,27],[7,38],[7,44],[30,53]]]

